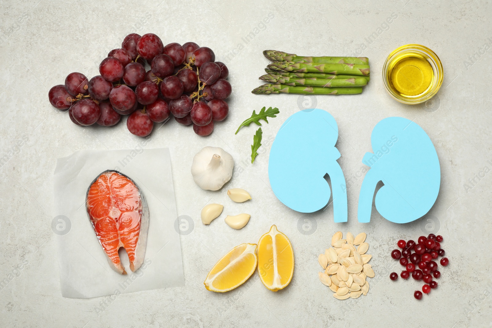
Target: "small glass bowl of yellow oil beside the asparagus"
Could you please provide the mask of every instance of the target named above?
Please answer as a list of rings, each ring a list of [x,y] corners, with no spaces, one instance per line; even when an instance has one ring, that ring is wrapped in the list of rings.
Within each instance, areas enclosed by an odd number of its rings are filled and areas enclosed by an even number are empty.
[[[441,88],[443,75],[439,57],[420,44],[395,49],[383,66],[386,90],[403,104],[420,104],[431,99]]]

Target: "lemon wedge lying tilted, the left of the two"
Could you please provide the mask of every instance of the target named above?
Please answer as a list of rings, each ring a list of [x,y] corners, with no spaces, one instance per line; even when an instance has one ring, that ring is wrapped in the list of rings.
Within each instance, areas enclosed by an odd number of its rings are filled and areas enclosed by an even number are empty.
[[[256,244],[241,244],[231,249],[215,264],[204,281],[212,292],[228,292],[241,286],[253,274],[258,258]]]

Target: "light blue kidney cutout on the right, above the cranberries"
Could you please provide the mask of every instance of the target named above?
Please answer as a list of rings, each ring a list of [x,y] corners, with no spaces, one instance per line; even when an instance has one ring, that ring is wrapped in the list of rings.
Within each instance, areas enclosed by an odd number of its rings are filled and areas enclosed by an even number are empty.
[[[439,159],[432,141],[419,124],[400,117],[379,121],[371,133],[374,153],[362,162],[370,167],[359,194],[359,222],[369,222],[376,184],[375,206],[395,223],[424,216],[434,205],[441,183]]]

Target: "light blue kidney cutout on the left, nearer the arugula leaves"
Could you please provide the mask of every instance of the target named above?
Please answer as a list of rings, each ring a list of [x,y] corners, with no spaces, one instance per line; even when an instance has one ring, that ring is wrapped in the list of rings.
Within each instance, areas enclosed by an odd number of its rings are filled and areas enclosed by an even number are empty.
[[[338,125],[321,109],[291,115],[278,130],[270,150],[268,177],[278,200],[303,213],[326,207],[333,189],[335,222],[347,221],[345,177],[338,165],[341,156],[335,144]]]

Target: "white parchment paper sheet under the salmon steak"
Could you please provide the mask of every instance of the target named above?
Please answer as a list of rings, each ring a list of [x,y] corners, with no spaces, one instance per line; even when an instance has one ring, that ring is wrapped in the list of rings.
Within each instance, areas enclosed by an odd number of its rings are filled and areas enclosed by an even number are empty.
[[[106,260],[87,215],[85,197],[92,180],[117,170],[142,190],[150,212],[144,264],[131,272],[120,249],[121,275]],[[184,286],[180,235],[169,149],[81,150],[59,158],[54,175],[54,227],[62,296],[92,298],[164,287]]]

